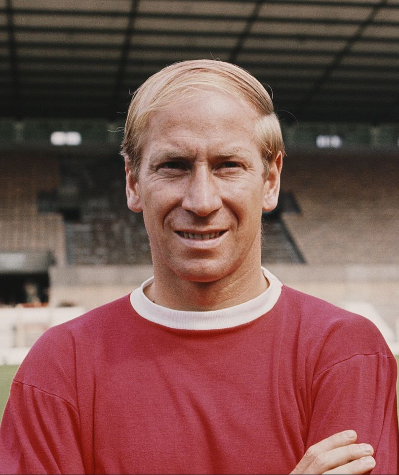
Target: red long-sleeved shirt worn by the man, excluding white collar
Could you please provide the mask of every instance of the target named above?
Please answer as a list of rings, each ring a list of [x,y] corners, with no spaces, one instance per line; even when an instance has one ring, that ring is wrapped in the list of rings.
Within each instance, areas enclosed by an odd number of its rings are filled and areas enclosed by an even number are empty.
[[[363,317],[283,287],[232,328],[172,329],[126,296],[51,328],[11,387],[3,474],[282,474],[346,429],[398,472],[396,360]]]

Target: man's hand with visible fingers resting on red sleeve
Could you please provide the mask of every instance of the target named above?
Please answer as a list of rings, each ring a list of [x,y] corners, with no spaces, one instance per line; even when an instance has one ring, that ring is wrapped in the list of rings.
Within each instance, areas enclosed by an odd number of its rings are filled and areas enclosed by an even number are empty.
[[[364,474],[375,467],[369,444],[356,444],[355,431],[331,435],[309,447],[291,475]]]

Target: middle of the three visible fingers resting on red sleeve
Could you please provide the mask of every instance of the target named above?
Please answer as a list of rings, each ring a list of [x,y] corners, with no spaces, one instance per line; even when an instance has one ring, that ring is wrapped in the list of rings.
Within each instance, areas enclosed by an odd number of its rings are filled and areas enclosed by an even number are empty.
[[[305,474],[323,474],[328,470],[338,469],[362,457],[370,456],[373,452],[374,450],[369,444],[351,444],[337,447],[317,455],[306,469]]]

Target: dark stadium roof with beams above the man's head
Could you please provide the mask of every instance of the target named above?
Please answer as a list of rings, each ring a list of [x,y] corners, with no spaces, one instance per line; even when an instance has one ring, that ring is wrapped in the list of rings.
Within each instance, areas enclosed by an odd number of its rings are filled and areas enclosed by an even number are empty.
[[[287,119],[399,122],[399,0],[0,0],[4,118],[114,120],[196,58],[250,71]]]

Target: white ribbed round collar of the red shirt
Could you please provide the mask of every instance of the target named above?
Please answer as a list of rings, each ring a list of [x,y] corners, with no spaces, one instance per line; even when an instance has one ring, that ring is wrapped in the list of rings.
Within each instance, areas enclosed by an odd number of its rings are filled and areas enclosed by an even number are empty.
[[[216,330],[231,328],[255,320],[269,312],[279,299],[281,282],[271,272],[262,267],[263,275],[269,281],[269,287],[263,293],[248,302],[226,309],[204,312],[173,310],[155,304],[146,297],[143,289],[153,282],[149,278],[130,294],[133,309],[154,323],[181,330]]]

